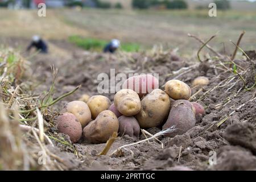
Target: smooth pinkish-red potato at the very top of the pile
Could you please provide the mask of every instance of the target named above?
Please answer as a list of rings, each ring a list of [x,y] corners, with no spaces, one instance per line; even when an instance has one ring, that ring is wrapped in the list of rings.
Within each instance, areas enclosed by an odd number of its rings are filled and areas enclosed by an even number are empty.
[[[147,93],[150,93],[152,90],[158,88],[158,78],[150,74],[130,77],[125,82],[123,82],[122,85],[122,89],[134,90],[139,94],[140,98],[146,96]]]

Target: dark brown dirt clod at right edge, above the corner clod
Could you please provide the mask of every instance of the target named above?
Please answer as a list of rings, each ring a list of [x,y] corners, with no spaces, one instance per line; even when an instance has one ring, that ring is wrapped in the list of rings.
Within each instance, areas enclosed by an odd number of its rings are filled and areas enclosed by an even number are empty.
[[[245,147],[256,155],[256,132],[251,123],[235,123],[227,127],[224,136],[232,145]]]

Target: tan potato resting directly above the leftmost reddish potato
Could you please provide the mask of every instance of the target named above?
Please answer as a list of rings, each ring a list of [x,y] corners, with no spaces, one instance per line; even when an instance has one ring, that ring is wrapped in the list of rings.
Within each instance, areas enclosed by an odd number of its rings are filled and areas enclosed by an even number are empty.
[[[92,114],[90,109],[85,102],[72,101],[64,106],[64,112],[72,113],[81,123],[82,127],[87,125],[91,120]]]

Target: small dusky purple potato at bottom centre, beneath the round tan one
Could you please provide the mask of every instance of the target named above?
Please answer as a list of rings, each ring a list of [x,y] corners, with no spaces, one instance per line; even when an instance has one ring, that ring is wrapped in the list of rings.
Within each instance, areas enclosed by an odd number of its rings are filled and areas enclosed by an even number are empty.
[[[136,139],[139,138],[139,132],[141,128],[139,127],[138,121],[132,116],[122,115],[118,118],[119,121],[119,135],[129,135],[130,137]]]

